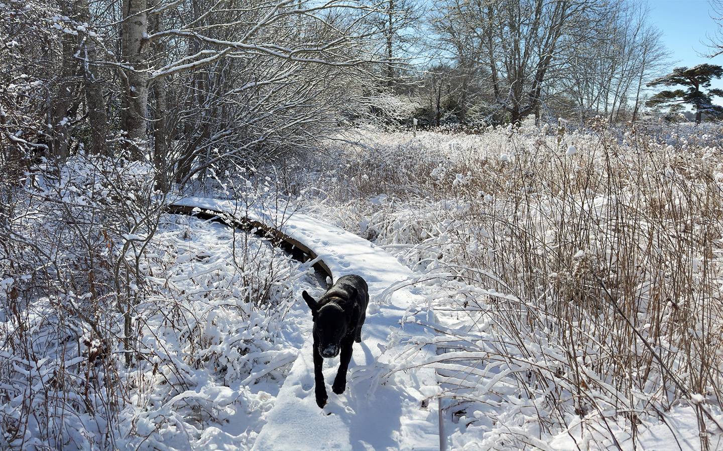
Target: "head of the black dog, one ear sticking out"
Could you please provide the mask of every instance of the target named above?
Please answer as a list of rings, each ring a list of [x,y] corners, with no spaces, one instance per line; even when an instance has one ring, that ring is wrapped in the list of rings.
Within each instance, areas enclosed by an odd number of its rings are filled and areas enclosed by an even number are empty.
[[[350,309],[344,309],[338,302],[331,300],[324,305],[319,305],[316,299],[309,296],[304,291],[301,293],[304,301],[312,310],[314,318],[314,337],[319,343],[319,354],[329,359],[338,356],[341,349],[341,339],[348,332],[349,323],[351,323]],[[340,299],[342,300],[342,299]]]

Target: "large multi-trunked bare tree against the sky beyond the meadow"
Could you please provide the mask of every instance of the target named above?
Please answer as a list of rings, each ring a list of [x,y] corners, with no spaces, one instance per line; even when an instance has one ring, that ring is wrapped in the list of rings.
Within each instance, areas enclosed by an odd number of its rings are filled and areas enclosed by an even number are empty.
[[[452,0],[442,4],[437,30],[458,61],[484,68],[491,102],[518,122],[538,113],[544,84],[560,69],[557,46],[599,9],[585,0]]]

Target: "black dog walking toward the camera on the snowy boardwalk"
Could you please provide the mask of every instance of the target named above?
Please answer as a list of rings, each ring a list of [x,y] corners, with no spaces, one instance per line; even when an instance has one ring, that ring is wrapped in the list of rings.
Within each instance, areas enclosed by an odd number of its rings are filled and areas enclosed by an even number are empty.
[[[367,318],[369,287],[359,276],[343,276],[316,301],[309,293],[301,294],[312,310],[314,319],[314,380],[316,400],[324,407],[328,396],[322,374],[324,357],[330,359],[341,351],[339,370],[331,389],[337,395],[346,390],[346,370],[351,360],[351,345],[361,343],[361,326]]]

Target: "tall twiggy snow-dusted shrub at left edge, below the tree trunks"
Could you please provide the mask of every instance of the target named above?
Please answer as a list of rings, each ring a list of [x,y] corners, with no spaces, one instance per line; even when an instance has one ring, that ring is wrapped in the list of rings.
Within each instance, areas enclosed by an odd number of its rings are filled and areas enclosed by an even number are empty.
[[[161,212],[142,165],[73,157],[3,185],[4,447],[108,445],[132,354],[142,255]],[[122,288],[121,288],[122,287]]]

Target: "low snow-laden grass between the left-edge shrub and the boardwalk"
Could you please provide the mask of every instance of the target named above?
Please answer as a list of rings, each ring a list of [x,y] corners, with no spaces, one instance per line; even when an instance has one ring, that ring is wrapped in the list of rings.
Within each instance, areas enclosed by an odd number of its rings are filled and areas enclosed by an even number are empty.
[[[172,219],[149,262],[140,349],[155,355],[129,374],[147,391],[127,421],[146,443],[249,446],[309,328],[293,283],[306,270],[256,237]]]

